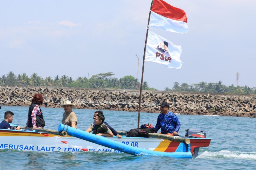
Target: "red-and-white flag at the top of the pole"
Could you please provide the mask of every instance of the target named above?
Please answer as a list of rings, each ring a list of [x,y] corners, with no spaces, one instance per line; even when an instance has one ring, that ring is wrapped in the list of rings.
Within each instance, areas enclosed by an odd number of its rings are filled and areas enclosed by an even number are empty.
[[[167,4],[163,0],[154,0],[149,26],[175,33],[188,32],[188,18],[185,11]]]

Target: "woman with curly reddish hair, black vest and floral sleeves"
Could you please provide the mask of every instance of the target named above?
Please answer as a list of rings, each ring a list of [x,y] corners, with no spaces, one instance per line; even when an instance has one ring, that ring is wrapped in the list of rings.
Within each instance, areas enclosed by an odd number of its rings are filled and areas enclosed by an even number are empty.
[[[28,109],[28,121],[27,127],[28,128],[44,128],[44,116],[42,110],[40,109],[39,105],[43,104],[43,96],[40,93],[36,93],[33,96],[32,103]]]

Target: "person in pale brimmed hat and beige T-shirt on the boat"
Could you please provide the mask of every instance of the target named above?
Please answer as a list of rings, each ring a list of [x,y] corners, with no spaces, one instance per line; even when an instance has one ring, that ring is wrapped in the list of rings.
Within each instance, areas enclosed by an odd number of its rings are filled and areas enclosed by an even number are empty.
[[[60,106],[65,110],[61,123],[71,126],[72,128],[76,128],[77,118],[75,112],[72,111],[72,108],[75,107],[75,104],[70,100],[65,100],[60,104]]]

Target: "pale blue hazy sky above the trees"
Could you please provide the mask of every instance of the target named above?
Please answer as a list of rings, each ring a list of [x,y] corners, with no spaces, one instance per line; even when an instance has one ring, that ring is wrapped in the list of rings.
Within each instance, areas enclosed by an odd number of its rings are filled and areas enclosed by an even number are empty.
[[[76,79],[113,72],[139,80],[151,0],[0,0],[0,76],[36,72]],[[188,33],[152,29],[182,47],[181,69],[145,62],[149,87],[205,81],[256,87],[254,0],[166,0],[183,9]]]

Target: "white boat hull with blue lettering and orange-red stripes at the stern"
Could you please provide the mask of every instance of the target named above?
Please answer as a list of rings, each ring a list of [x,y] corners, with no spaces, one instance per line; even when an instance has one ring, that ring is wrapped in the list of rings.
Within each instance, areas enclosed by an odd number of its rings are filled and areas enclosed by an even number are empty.
[[[71,128],[71,127],[70,127]],[[202,131],[201,131],[202,132]],[[86,132],[87,133],[87,132]],[[187,133],[187,132],[186,132]],[[192,132],[193,133],[193,132]],[[198,133],[198,132],[197,132]],[[210,138],[195,138],[190,134],[190,144],[187,145],[187,151],[191,156],[197,156],[200,147],[209,146]],[[96,136],[96,135],[95,135]],[[190,136],[190,137],[189,137]],[[200,136],[200,133],[199,133]],[[201,136],[204,136],[201,133]],[[99,136],[97,136],[99,137]],[[148,151],[158,152],[176,152],[181,142],[158,139],[151,137],[104,137],[113,141],[141,148]],[[185,145],[184,145],[185,146]],[[49,133],[37,132],[35,130],[10,130],[0,129],[0,149],[36,151],[36,152],[120,152],[106,146],[95,144],[72,136],[60,136]]]

